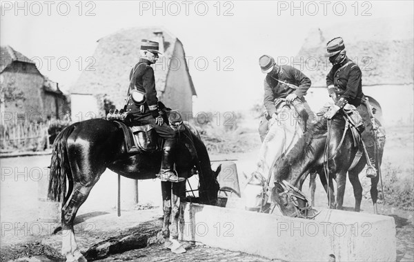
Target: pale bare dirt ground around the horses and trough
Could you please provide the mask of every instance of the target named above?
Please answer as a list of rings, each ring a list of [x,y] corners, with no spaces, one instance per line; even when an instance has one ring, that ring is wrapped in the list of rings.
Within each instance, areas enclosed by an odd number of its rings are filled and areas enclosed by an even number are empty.
[[[386,148],[384,150],[384,161],[389,163],[391,168],[397,168],[399,176],[413,177],[414,139],[413,126],[389,127],[387,130]],[[255,140],[259,145],[259,137],[255,132],[249,134],[250,139]],[[244,174],[250,174],[255,170],[255,161],[259,148],[248,150],[248,152],[237,154],[215,154],[212,159],[237,159],[237,171],[239,174],[240,187],[244,186]],[[47,254],[47,248],[39,241],[43,236],[50,234],[52,224],[42,227],[42,232],[37,230],[37,180],[39,170],[44,170],[50,164],[50,156],[38,157],[14,157],[0,159],[1,172],[1,261],[16,259],[18,257]],[[217,163],[215,163],[217,165]],[[17,168],[17,169],[16,169]],[[47,169],[47,168],[46,168]],[[11,173],[10,173],[11,170]],[[44,171],[46,174],[46,171]],[[383,170],[383,175],[386,172]],[[412,180],[411,180],[412,181]],[[79,210],[79,216],[91,212],[102,214],[115,213],[116,203],[116,176],[112,172],[105,172],[101,180],[95,185],[88,200]],[[364,192],[368,192],[369,185],[364,183]],[[159,205],[161,194],[159,194],[158,181],[140,181],[139,183],[140,202]],[[308,195],[308,187],[304,184],[304,193]],[[346,184],[346,196],[344,206],[346,210],[352,210],[354,205],[353,190],[351,184]],[[326,194],[322,186],[317,182],[316,208],[324,208],[327,205]],[[397,228],[397,261],[414,261],[414,218],[413,213],[395,208],[389,205],[378,205],[380,214],[393,216]],[[369,194],[364,194],[362,201],[362,212],[373,212]],[[44,229],[48,230],[44,230]],[[139,261],[170,261],[172,258],[169,252],[162,252],[160,246],[154,245],[143,250],[133,250],[128,254],[111,256],[113,261],[139,260]],[[188,254],[195,261],[209,261],[212,258],[208,255],[197,256],[198,253],[215,252],[215,260],[222,256],[223,261],[237,261],[237,257],[244,257],[238,261],[262,261],[253,256],[237,254],[239,252],[227,252],[226,250],[210,249],[203,246],[194,246]],[[11,256],[9,256],[10,254]],[[159,255],[159,259],[153,259],[152,254]],[[184,259],[184,256],[180,256]],[[106,259],[103,261],[112,261]],[[179,259],[176,257],[175,259]],[[187,260],[187,257],[185,257]],[[174,259],[172,259],[174,260]],[[179,259],[181,260],[181,259]]]

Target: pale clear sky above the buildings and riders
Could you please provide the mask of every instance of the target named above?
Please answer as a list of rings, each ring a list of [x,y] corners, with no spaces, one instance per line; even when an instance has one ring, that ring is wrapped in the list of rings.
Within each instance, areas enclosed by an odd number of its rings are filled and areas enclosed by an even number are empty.
[[[1,1],[0,43],[35,61],[42,74],[68,91],[93,61],[98,39],[122,28],[163,26],[184,43],[190,58],[195,112],[242,110],[262,102],[262,54],[294,57],[312,28],[413,17],[413,3]]]

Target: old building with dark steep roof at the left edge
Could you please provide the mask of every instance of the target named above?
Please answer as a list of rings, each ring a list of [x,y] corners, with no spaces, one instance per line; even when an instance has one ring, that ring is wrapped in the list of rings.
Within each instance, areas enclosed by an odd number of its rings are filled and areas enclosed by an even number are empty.
[[[0,62],[1,112],[59,119],[70,110],[58,84],[43,76],[21,52],[1,46]]]

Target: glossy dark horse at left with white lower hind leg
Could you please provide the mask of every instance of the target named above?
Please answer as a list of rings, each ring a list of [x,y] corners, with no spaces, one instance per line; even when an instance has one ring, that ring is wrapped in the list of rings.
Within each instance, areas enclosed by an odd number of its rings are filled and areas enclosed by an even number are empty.
[[[217,183],[219,169],[216,172],[211,170],[204,143],[188,128],[186,132],[179,135],[178,139],[176,170],[179,176],[190,177],[193,174],[191,170],[196,167],[200,179],[199,201],[215,204],[219,190]],[[193,141],[193,149],[188,148],[188,143],[184,142],[188,142],[186,139]],[[67,261],[86,261],[75,241],[73,221],[79,207],[86,201],[90,190],[106,168],[130,179],[155,179],[160,165],[161,152],[141,151],[137,154],[128,154],[124,133],[113,121],[90,119],[73,123],[57,136],[52,152],[48,196],[55,201],[62,201],[62,254],[66,256]],[[161,182],[164,205],[162,232],[167,239],[170,234],[168,225],[172,214],[170,248],[178,252],[183,250],[177,241],[177,219],[180,201],[185,197],[185,183],[185,181]]]

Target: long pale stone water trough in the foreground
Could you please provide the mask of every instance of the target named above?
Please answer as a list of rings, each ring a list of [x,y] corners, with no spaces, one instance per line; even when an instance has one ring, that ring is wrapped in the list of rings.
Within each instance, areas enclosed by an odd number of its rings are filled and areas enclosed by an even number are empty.
[[[239,199],[242,201],[242,199]],[[181,240],[284,261],[395,261],[391,216],[322,210],[313,220],[184,203]]]

